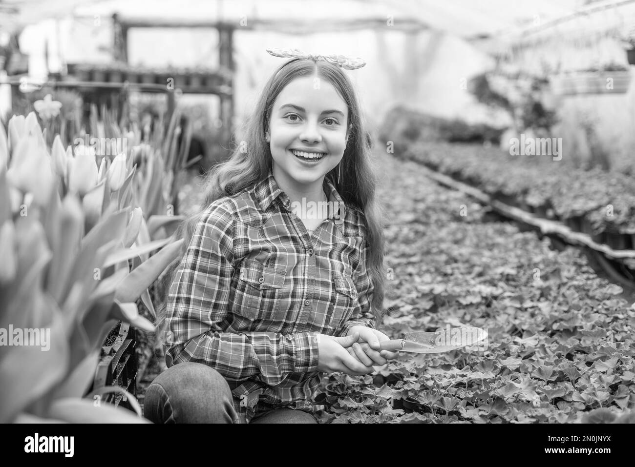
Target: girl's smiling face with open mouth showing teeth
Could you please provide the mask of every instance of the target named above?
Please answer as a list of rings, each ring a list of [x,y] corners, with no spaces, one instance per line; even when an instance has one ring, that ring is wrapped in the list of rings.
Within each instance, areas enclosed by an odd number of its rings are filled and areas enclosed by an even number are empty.
[[[294,79],[273,105],[267,135],[272,173],[283,190],[321,190],[324,175],[344,155],[347,105],[330,82],[320,79],[316,86],[316,80],[313,76]]]

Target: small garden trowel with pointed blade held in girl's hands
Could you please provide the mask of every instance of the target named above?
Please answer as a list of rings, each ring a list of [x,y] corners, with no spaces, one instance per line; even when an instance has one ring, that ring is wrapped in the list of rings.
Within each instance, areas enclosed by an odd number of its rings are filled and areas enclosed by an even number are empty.
[[[380,342],[381,350],[414,353],[441,353],[476,345],[487,338],[487,330],[478,327],[447,327],[436,332],[406,332],[403,339]],[[484,343],[481,342],[481,345]]]

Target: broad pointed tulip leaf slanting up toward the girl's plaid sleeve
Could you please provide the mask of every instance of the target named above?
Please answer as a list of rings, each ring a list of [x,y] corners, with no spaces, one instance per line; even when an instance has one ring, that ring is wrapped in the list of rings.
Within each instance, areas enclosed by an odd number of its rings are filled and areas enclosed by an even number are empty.
[[[149,260],[133,269],[128,277],[117,287],[115,297],[119,301],[135,301],[145,289],[165,270],[181,253],[184,239],[177,240],[163,247],[161,251],[150,256]]]

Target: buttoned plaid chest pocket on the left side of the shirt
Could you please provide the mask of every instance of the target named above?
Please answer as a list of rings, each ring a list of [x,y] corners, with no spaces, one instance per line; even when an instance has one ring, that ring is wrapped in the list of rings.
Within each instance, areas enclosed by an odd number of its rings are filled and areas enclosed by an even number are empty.
[[[246,261],[240,269],[237,312],[249,319],[271,319],[280,308],[285,268]]]

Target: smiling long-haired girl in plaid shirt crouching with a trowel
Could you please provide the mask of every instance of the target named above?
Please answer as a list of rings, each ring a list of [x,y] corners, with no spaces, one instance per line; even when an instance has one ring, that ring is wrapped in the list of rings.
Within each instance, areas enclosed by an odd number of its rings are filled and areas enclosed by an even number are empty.
[[[374,329],[384,235],[352,84],[328,58],[283,56],[296,58],[265,84],[186,225],[168,369],[145,395],[156,423],[315,423],[323,372],[368,374],[397,356]]]

